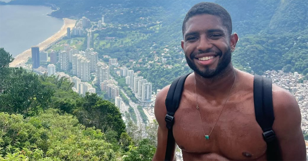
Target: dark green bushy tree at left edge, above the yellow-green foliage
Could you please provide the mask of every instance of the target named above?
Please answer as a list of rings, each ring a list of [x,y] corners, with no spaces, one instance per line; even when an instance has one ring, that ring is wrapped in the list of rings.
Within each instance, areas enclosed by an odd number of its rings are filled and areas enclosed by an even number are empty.
[[[8,68],[1,77],[0,111],[27,117],[49,107],[55,91],[44,86],[38,75],[27,73],[20,67]]]

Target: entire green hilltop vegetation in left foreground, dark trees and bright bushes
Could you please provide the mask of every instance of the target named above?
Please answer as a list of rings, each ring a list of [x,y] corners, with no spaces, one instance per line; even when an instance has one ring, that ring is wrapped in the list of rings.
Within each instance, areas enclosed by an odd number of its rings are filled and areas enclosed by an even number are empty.
[[[67,79],[8,67],[3,48],[0,56],[0,160],[152,159],[155,144],[136,139],[113,103],[81,97]]]

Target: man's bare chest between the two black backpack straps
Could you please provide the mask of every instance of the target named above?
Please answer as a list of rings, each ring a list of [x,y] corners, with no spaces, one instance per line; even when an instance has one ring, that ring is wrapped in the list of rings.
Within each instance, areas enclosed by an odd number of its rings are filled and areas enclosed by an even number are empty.
[[[217,108],[200,105],[200,115],[193,102],[181,101],[175,114],[173,135],[184,151],[183,157],[185,153],[214,153],[232,160],[264,157],[266,143],[255,119],[253,99],[250,98],[227,102],[222,112],[219,105]],[[209,135],[209,140],[205,139],[205,135]]]

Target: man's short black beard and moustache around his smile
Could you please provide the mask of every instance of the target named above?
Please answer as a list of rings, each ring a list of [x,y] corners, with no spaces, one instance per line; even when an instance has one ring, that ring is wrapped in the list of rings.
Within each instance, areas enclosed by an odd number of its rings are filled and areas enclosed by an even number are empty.
[[[206,52],[204,52],[206,53]],[[222,58],[219,58],[218,64],[216,69],[209,69],[209,67],[206,67],[205,70],[199,70],[196,66],[196,64],[193,62],[193,60],[195,59],[194,57],[197,54],[191,54],[191,59],[189,59],[186,54],[185,54],[185,58],[187,61],[188,66],[195,72],[197,72],[198,75],[201,75],[203,78],[212,78],[218,74],[220,74],[222,71],[225,70],[226,67],[228,67],[229,63],[231,62],[231,48],[228,47],[227,52],[225,52],[225,54],[222,54],[221,51],[219,50],[219,52],[216,52],[217,56]]]

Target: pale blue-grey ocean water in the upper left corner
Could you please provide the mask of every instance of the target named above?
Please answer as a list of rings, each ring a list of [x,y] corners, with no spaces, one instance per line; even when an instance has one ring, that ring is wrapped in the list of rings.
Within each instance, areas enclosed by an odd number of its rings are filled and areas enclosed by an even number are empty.
[[[46,6],[0,5],[0,47],[15,57],[57,33],[63,20],[47,16],[51,12]]]

